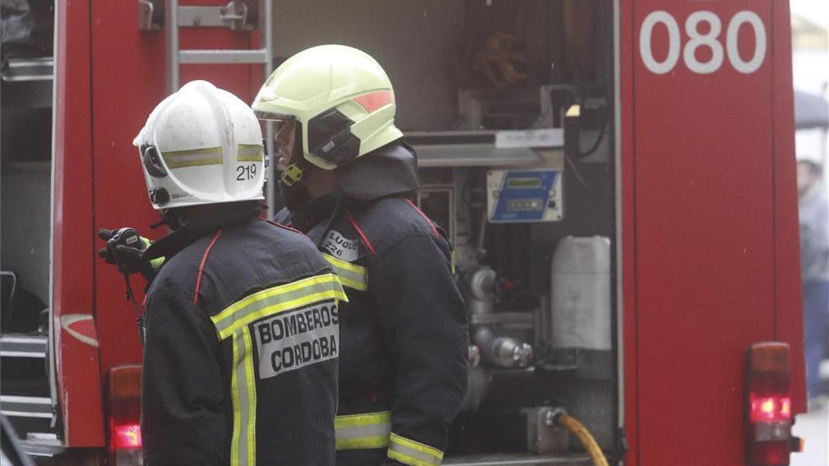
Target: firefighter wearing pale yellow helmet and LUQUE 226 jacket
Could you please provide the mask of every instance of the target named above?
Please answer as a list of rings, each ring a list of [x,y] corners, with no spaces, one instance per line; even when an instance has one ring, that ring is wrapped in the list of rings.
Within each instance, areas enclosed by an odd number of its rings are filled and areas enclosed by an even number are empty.
[[[443,231],[410,201],[414,150],[365,52],[317,46],[279,66],[252,105],[276,124],[287,209],[340,277],[337,464],[440,464],[466,389],[468,327]]]

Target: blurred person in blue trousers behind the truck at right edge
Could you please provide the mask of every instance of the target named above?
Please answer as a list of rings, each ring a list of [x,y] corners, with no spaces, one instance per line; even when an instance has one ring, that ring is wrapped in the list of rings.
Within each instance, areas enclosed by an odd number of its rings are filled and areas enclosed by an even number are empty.
[[[825,400],[827,395],[820,366],[827,359],[829,345],[829,199],[821,181],[819,164],[810,160],[797,162],[803,340],[807,391],[813,401]]]

